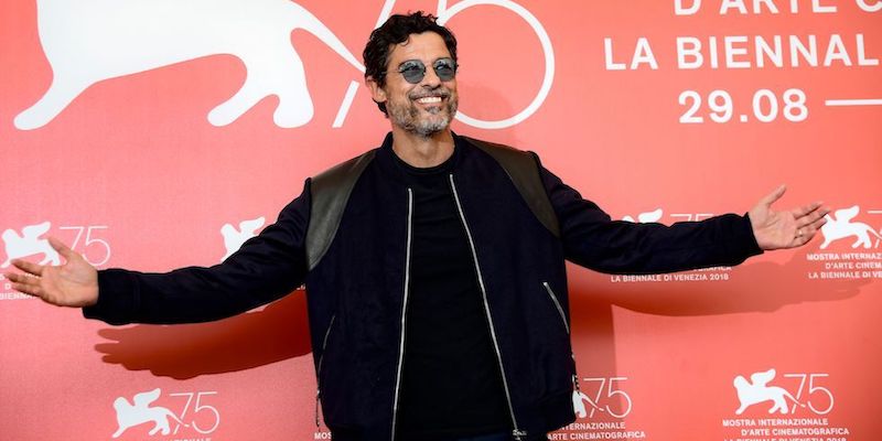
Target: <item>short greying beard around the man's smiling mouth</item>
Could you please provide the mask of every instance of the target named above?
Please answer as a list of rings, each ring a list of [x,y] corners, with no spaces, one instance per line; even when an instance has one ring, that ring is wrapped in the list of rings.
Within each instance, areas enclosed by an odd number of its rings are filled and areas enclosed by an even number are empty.
[[[440,96],[442,98],[438,106],[421,108],[416,100],[427,96]],[[451,93],[447,87],[433,90],[413,90],[405,99],[389,99],[386,103],[386,110],[392,123],[401,129],[429,138],[434,133],[447,130],[450,122],[456,115],[459,99],[456,94]]]

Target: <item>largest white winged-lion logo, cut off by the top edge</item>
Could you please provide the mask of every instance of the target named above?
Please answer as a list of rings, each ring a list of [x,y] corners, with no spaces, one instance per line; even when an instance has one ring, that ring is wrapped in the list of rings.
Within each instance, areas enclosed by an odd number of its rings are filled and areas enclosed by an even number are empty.
[[[225,126],[276,95],[273,121],[283,128],[312,119],[303,62],[291,32],[303,29],[355,68],[364,66],[315,15],[288,0],[37,0],[37,28],[52,66],[52,85],[15,117],[21,130],[57,116],[89,86],[209,55],[245,63],[247,77],[208,114]]]

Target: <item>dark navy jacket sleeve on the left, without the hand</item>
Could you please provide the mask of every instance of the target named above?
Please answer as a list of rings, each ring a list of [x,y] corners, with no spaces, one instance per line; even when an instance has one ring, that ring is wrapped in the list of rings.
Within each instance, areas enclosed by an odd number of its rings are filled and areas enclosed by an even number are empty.
[[[223,263],[165,273],[123,269],[98,272],[98,303],[88,319],[110,324],[192,323],[232,316],[297,289],[306,275],[310,181],[278,220],[248,239]]]

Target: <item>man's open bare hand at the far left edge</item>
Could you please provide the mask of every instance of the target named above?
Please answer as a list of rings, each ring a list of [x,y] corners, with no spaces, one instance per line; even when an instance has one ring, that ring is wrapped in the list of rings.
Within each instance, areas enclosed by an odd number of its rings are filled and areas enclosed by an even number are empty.
[[[98,271],[95,267],[61,240],[50,237],[49,243],[64,257],[64,265],[52,267],[14,259],[12,265],[25,273],[6,275],[12,288],[58,306],[83,308],[97,303]]]

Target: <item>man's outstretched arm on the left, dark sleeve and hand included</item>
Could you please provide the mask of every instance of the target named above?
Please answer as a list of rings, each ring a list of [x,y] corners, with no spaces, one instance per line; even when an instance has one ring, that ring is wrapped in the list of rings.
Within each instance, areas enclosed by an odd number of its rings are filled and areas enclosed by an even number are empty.
[[[56,305],[83,308],[86,318],[110,324],[218,320],[277,300],[303,282],[309,205],[309,186],[304,186],[303,194],[282,209],[275,224],[223,263],[208,268],[164,273],[96,271],[82,256],[52,239],[66,260],[64,265],[17,260],[15,267],[24,273],[7,277],[23,293]]]

